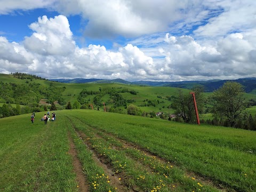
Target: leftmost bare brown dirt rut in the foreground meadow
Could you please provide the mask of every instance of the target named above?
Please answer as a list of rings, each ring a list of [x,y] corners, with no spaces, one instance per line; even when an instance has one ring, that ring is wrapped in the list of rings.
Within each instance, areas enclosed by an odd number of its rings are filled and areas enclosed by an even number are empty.
[[[74,171],[76,173],[76,180],[78,182],[78,189],[79,191],[89,191],[89,183],[86,181],[85,179],[85,175],[83,173],[83,166],[81,164],[81,162],[79,161],[79,159],[77,158],[77,153],[76,153],[76,149],[75,149],[75,144],[73,143],[70,133],[69,133],[69,151],[68,153],[72,156],[73,158],[73,166],[74,166]]]

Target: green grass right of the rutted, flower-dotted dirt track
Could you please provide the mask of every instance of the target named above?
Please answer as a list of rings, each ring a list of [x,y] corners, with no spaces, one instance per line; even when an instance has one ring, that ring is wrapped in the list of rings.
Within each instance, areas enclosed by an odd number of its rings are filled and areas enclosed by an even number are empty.
[[[90,110],[68,111],[67,114],[229,188],[256,190],[256,132]]]

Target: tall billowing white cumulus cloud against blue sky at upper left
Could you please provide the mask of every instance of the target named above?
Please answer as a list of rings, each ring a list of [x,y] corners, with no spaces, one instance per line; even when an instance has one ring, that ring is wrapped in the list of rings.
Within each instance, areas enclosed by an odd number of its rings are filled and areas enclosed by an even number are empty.
[[[36,31],[25,37],[27,50],[44,55],[67,55],[75,49],[67,17],[63,15],[48,19],[46,15],[29,26]]]

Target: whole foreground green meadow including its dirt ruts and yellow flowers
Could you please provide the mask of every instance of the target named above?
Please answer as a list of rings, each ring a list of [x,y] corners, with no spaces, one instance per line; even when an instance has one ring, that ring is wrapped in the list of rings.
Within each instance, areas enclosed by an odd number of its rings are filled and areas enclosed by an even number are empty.
[[[55,112],[0,119],[0,191],[256,190],[256,132]]]

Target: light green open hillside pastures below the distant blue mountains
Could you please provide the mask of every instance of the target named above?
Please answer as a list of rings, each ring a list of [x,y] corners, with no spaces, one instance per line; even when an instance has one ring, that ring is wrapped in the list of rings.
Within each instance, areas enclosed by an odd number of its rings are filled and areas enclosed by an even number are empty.
[[[127,82],[122,81],[122,79],[116,79],[118,83],[108,82],[102,83],[105,81],[98,82],[90,82],[90,83],[59,83],[52,81],[45,81],[41,79],[33,79],[32,81],[29,79],[18,79],[14,78],[12,75],[0,75],[0,82],[4,83],[17,83],[17,84],[33,84],[37,83],[44,86],[45,90],[49,90],[50,87],[65,87],[65,90],[61,93],[61,98],[65,100],[65,102],[73,103],[78,100],[79,95],[83,90],[93,91],[95,94],[86,94],[86,103],[94,103],[95,95],[99,93],[100,89],[104,90],[113,90],[114,92],[122,95],[122,98],[128,101],[128,104],[134,104],[136,106],[141,106],[142,111],[163,111],[165,113],[172,114],[173,110],[169,109],[171,101],[169,101],[169,97],[171,95],[177,95],[177,89],[173,87],[154,87],[154,86],[138,86],[133,84],[126,84]],[[34,90],[35,91],[35,90]],[[134,93],[131,94],[130,92]],[[189,90],[184,89],[183,91],[189,92]],[[44,91],[45,92],[45,91]],[[96,93],[98,92],[98,93]],[[108,91],[109,92],[109,91]],[[41,95],[41,99],[46,99],[43,95]],[[38,99],[37,99],[38,100]],[[145,106],[145,101],[158,101],[155,106]],[[100,98],[100,103],[95,105],[94,107],[100,106],[100,109],[103,110],[103,102],[106,103],[107,107],[111,107],[114,105],[113,95],[111,96],[109,93],[104,94]],[[83,104],[81,102],[81,104]],[[142,107],[143,105],[143,107]],[[118,106],[120,109],[124,109],[125,105]]]

